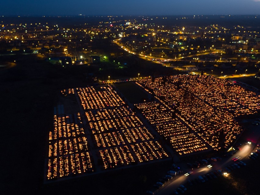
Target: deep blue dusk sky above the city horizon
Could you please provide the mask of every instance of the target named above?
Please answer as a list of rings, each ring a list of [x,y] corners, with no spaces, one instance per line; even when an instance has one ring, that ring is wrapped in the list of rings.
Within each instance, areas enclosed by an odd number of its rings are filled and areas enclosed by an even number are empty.
[[[260,0],[6,0],[4,16],[260,14]]]

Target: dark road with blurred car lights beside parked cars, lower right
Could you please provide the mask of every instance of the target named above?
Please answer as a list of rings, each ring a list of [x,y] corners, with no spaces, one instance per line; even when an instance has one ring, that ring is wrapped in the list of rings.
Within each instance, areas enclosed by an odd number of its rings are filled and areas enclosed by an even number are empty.
[[[258,127],[257,126],[251,127],[251,133],[249,135],[247,135],[248,140],[250,140],[251,138],[254,138],[254,142],[259,141],[259,138],[260,138],[259,130],[260,130],[259,126]],[[233,164],[234,163],[232,161],[233,158],[240,157],[239,160],[246,160],[246,159],[248,159],[247,156],[255,148],[255,145],[256,145],[256,143],[254,143],[254,144],[245,143],[241,146],[240,150],[237,153],[235,153],[233,156],[226,157],[225,159],[222,159],[220,161],[218,160],[216,162],[209,162],[209,164],[214,163],[214,166],[211,167],[211,168],[207,167],[208,164],[202,165],[202,167],[200,167],[200,168],[194,168],[193,173],[188,175],[188,176],[185,176],[184,174],[187,173],[190,170],[186,169],[185,172],[183,170],[182,176],[180,176],[176,180],[172,181],[167,186],[161,188],[155,194],[156,195],[172,195],[172,193],[175,189],[177,189],[180,185],[185,184],[188,180],[195,179],[200,175],[204,175],[204,174],[207,174],[207,173],[212,172],[212,171],[223,169],[224,167],[226,167],[230,164]]]

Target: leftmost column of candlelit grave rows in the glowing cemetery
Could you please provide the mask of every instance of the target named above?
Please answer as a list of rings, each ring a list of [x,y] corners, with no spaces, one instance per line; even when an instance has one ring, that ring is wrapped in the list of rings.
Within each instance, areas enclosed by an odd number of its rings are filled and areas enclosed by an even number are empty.
[[[79,113],[54,116],[47,161],[48,180],[93,171]]]

